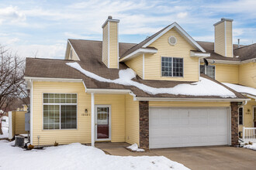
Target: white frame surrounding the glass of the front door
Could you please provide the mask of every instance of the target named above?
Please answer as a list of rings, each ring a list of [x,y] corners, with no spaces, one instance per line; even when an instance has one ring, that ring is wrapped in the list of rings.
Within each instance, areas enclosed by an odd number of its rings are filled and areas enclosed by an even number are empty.
[[[98,111],[97,107],[109,107],[109,138],[97,138],[97,118],[98,118]],[[95,141],[111,141],[111,105],[105,105],[105,104],[95,104]]]

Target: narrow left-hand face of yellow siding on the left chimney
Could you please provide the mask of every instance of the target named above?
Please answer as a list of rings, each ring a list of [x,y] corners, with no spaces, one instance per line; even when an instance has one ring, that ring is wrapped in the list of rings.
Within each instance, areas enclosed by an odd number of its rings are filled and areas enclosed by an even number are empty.
[[[102,39],[102,62],[108,66],[108,53],[109,53],[109,30],[108,24],[103,28],[103,39]]]

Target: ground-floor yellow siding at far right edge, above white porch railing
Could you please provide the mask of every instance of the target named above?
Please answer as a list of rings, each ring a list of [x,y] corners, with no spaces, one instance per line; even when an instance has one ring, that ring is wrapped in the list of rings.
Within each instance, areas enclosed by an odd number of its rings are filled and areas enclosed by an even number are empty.
[[[245,128],[254,128],[254,110],[253,107],[256,106],[256,101],[251,99],[246,105],[244,105],[244,122],[239,125],[239,131],[243,131]]]

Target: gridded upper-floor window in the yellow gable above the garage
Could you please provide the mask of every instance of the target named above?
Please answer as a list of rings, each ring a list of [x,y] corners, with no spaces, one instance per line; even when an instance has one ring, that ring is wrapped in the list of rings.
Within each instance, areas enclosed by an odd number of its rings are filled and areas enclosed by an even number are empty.
[[[161,57],[162,76],[183,76],[183,58]]]

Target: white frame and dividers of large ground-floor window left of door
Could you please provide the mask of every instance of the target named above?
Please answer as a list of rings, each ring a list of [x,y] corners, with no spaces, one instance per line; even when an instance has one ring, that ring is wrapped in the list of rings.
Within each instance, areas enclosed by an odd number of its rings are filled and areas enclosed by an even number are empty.
[[[47,93],[47,92],[44,92],[44,93]],[[49,103],[46,103],[46,104],[44,104],[43,103],[43,94],[44,93],[42,93],[42,117],[43,117],[43,106],[44,105],[59,105],[60,106],[60,128],[59,129],[44,129],[43,128],[43,118],[42,118],[42,131],[69,131],[69,130],[71,130],[71,131],[74,131],[74,130],[78,130],[78,93],[70,93],[70,94],[76,94],[77,95],[77,103],[75,103],[75,104],[49,104]],[[64,94],[66,94],[66,93],[64,93]],[[77,106],[77,128],[69,128],[69,129],[61,129],[61,105],[76,105]]]

